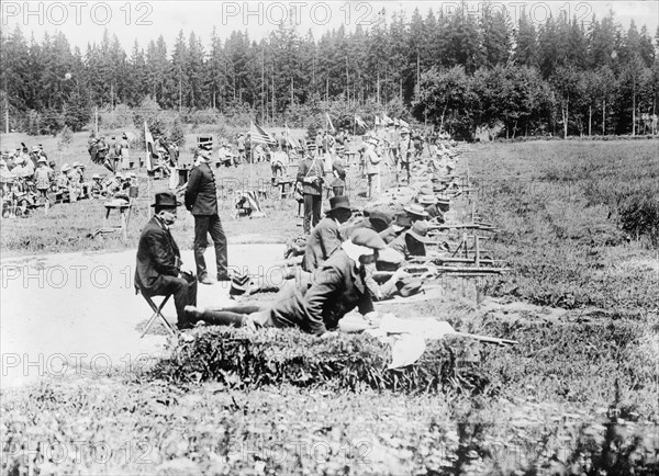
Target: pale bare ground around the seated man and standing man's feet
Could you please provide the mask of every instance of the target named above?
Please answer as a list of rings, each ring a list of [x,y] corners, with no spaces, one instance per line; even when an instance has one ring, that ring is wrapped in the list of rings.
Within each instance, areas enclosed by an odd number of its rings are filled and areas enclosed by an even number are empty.
[[[230,263],[252,273],[280,279],[276,267],[283,245],[231,245]],[[212,249],[206,251],[211,275]],[[194,265],[191,250],[185,263]],[[164,355],[167,338],[154,332],[139,338],[150,316],[133,291],[135,250],[77,252],[2,260],[0,352],[2,387],[71,374],[105,374],[143,365]],[[200,306],[231,303],[228,283],[200,285]],[[170,302],[165,315],[175,320]]]

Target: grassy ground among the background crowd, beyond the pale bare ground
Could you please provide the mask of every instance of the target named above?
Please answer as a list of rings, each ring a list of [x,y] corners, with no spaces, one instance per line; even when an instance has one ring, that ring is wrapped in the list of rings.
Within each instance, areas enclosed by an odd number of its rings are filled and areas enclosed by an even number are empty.
[[[295,131],[298,135],[301,132]],[[186,144],[194,144],[196,134],[189,134]],[[72,143],[63,150],[57,150],[57,139],[53,137],[30,137],[22,134],[1,135],[2,147],[4,144],[19,145],[24,141],[29,146],[32,144],[43,144],[48,152],[48,159],[57,162],[59,169],[63,163],[71,165],[79,161],[87,166],[86,178],[91,179],[93,173],[108,175],[109,172],[103,167],[92,163],[87,154],[87,133],[77,133],[74,135]],[[190,147],[183,148],[183,157],[191,157]],[[133,154],[136,154],[133,151]],[[273,189],[270,184],[271,170],[268,163],[254,163],[250,166],[242,165],[237,168],[215,169],[215,175],[220,190],[221,200],[220,217],[222,218],[225,233],[231,237],[250,235],[263,235],[268,231],[267,239],[279,240],[281,242],[290,237],[302,234],[302,219],[297,217],[298,203],[293,199],[280,200],[279,189]],[[137,248],[139,231],[153,208],[153,196],[156,192],[168,190],[167,180],[149,180],[146,170],[137,170],[139,184],[139,199],[133,209],[129,223],[127,240],[119,235],[105,235],[90,239],[88,234],[103,225],[105,200],[83,200],[74,204],[60,204],[51,208],[45,214],[43,208],[35,209],[31,216],[25,218],[5,219],[2,222],[0,230],[0,251],[3,256],[16,253],[43,253],[43,252],[66,252],[77,250],[118,250]],[[289,167],[288,174],[294,177],[297,165]],[[391,178],[383,177],[383,186],[388,186]],[[360,196],[366,190],[365,180],[357,175],[356,168],[350,171],[349,190],[351,203],[355,206],[366,203],[366,199]],[[266,213],[266,218],[248,219],[233,218],[234,191],[242,188],[265,189],[268,197],[261,205]],[[328,201],[325,201],[328,205]],[[174,228],[174,235],[179,245],[183,248],[192,247],[193,238],[193,217],[185,209],[180,209],[179,219]]]

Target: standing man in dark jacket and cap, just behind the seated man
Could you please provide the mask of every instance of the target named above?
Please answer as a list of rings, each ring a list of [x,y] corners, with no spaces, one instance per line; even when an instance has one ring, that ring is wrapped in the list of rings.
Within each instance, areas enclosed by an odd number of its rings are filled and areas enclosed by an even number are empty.
[[[197,276],[202,284],[212,284],[203,252],[208,246],[208,234],[211,234],[215,246],[217,281],[230,281],[226,257],[226,236],[217,215],[217,189],[215,175],[211,170],[212,144],[204,144],[199,151],[199,165],[190,172],[186,189],[186,208],[194,216],[194,262]]]

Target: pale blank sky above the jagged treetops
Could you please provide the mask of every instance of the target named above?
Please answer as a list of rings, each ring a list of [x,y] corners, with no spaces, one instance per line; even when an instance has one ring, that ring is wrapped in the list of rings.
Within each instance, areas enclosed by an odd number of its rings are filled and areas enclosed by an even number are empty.
[[[659,25],[659,2],[657,1],[505,1],[491,2],[495,8],[505,8],[516,22],[523,8],[537,23],[544,22],[549,12],[557,15],[566,11],[579,20],[590,22],[592,15],[602,19],[612,10],[615,19],[626,30],[634,20],[638,30],[647,25],[652,37]],[[44,33],[65,32],[74,46],[85,53],[88,43],[99,43],[103,29],[116,34],[124,49],[130,54],[135,39],[146,48],[150,39],[164,36],[171,50],[180,30],[186,37],[194,31],[204,46],[210,45],[211,33],[216,27],[217,35],[226,38],[232,31],[247,31],[253,39],[260,39],[273,31],[282,19],[292,19],[301,34],[311,30],[317,39],[323,33],[342,24],[354,30],[357,24],[368,27],[382,8],[387,9],[387,20],[394,10],[404,10],[407,18],[415,8],[425,16],[432,8],[454,11],[459,1],[409,1],[409,2],[366,2],[366,1],[2,1],[2,32],[13,31],[18,24],[24,35],[41,42]],[[478,14],[483,2],[468,2],[468,11]]]

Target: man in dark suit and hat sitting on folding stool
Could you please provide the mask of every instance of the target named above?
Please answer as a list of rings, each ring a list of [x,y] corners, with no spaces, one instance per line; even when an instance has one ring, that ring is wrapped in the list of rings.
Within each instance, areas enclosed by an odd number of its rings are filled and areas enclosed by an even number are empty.
[[[137,246],[135,287],[145,296],[174,294],[177,327],[187,329],[192,324],[186,317],[186,306],[197,305],[197,277],[181,270],[181,253],[169,233],[179,205],[174,193],[156,193],[156,203],[152,205],[155,215],[142,230]]]

